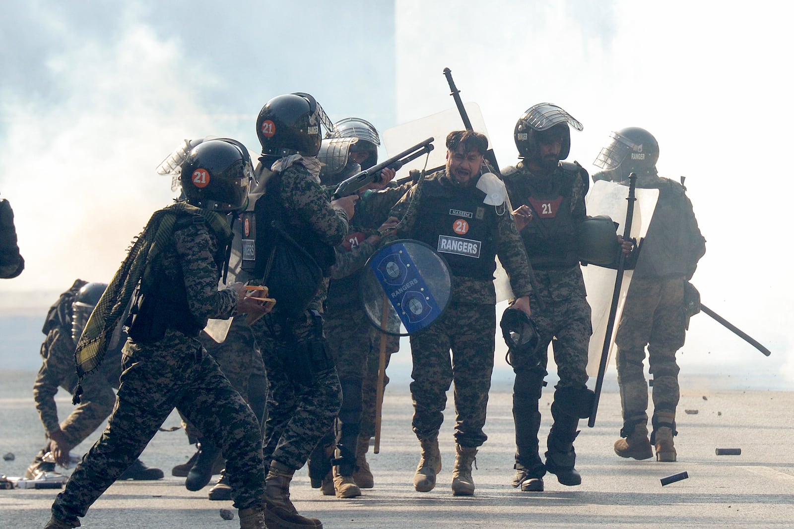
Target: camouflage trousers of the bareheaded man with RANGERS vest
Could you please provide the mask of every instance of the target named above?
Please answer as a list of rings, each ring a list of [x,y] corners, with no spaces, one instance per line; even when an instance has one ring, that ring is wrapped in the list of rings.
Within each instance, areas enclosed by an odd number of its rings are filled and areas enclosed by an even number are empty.
[[[495,305],[452,302],[434,324],[410,337],[412,425],[419,439],[438,434],[446,392],[453,381],[455,441],[462,447],[480,447],[488,439],[483,427],[494,366],[495,327]]]

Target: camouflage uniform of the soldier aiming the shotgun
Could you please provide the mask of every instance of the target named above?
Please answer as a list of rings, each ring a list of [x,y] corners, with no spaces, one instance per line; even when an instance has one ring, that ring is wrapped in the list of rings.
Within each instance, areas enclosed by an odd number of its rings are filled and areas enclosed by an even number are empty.
[[[277,174],[287,232],[308,226],[318,242],[332,246],[341,243],[348,230],[347,214],[330,205],[319,178],[301,160]],[[287,318],[277,300],[273,312],[251,325],[268,375],[266,464],[279,462],[292,470],[301,468],[339,411],[339,378],[322,327],[327,289],[326,278],[302,316]],[[301,362],[304,369],[293,369],[298,356],[305,362]]]

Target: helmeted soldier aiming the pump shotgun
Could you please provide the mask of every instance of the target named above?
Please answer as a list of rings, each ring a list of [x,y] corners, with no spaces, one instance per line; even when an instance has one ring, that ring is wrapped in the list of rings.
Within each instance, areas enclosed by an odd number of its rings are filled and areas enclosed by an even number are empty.
[[[321,123],[333,128],[310,94],[279,95],[260,111],[256,121],[262,144],[260,166],[269,167],[272,174],[268,171],[267,190],[255,206],[256,274],[267,270],[269,252],[262,251],[258,232],[265,226],[281,224],[326,274],[334,263],[333,247],[348,231],[357,197],[329,201],[320,184],[316,155]],[[333,426],[341,404],[337,370],[323,334],[327,277],[316,288],[306,307],[296,308],[290,305],[294,300],[276,297],[273,312],[251,325],[268,376],[265,517],[271,529],[322,527],[320,520],[300,516],[290,501],[295,470],[306,464]]]

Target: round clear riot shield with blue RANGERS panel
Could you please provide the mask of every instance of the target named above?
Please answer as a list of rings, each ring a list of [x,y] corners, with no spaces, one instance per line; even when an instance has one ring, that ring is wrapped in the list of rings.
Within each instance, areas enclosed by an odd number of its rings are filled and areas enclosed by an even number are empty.
[[[427,328],[452,297],[449,265],[418,240],[395,240],[381,248],[364,265],[359,285],[370,323],[393,336]]]

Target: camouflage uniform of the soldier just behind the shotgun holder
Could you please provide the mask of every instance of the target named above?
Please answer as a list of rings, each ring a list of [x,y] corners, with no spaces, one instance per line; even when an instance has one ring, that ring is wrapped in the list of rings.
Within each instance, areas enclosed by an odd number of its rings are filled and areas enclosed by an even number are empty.
[[[360,270],[375,253],[377,246],[368,242],[367,231],[374,231],[384,223],[391,206],[409,187],[410,184],[387,187],[362,196],[356,203],[354,225],[350,226],[345,241],[337,246],[337,261],[330,272],[323,321],[342,389],[342,404],[335,433],[339,454],[334,459],[335,466],[338,466],[337,473],[342,476],[353,475],[357,459],[367,451],[369,438],[375,435],[375,399],[368,395],[368,404],[372,407],[371,411],[367,410],[369,423],[372,424],[368,431],[371,430],[372,433],[360,436],[360,424],[364,416],[364,386],[368,388],[368,393],[376,390],[380,359],[380,338],[377,339],[376,350],[372,351],[374,337],[380,336],[380,332],[369,324],[359,299]],[[390,340],[390,343],[393,344],[394,340]],[[374,370],[369,365],[373,356]],[[372,378],[373,371],[375,380],[368,380]],[[330,462],[326,460],[333,451],[333,437],[333,434],[327,435],[311,455],[309,470],[315,487],[318,486],[318,480],[322,480],[330,472]],[[357,447],[358,439],[366,444]],[[363,462],[359,464],[361,463]]]

